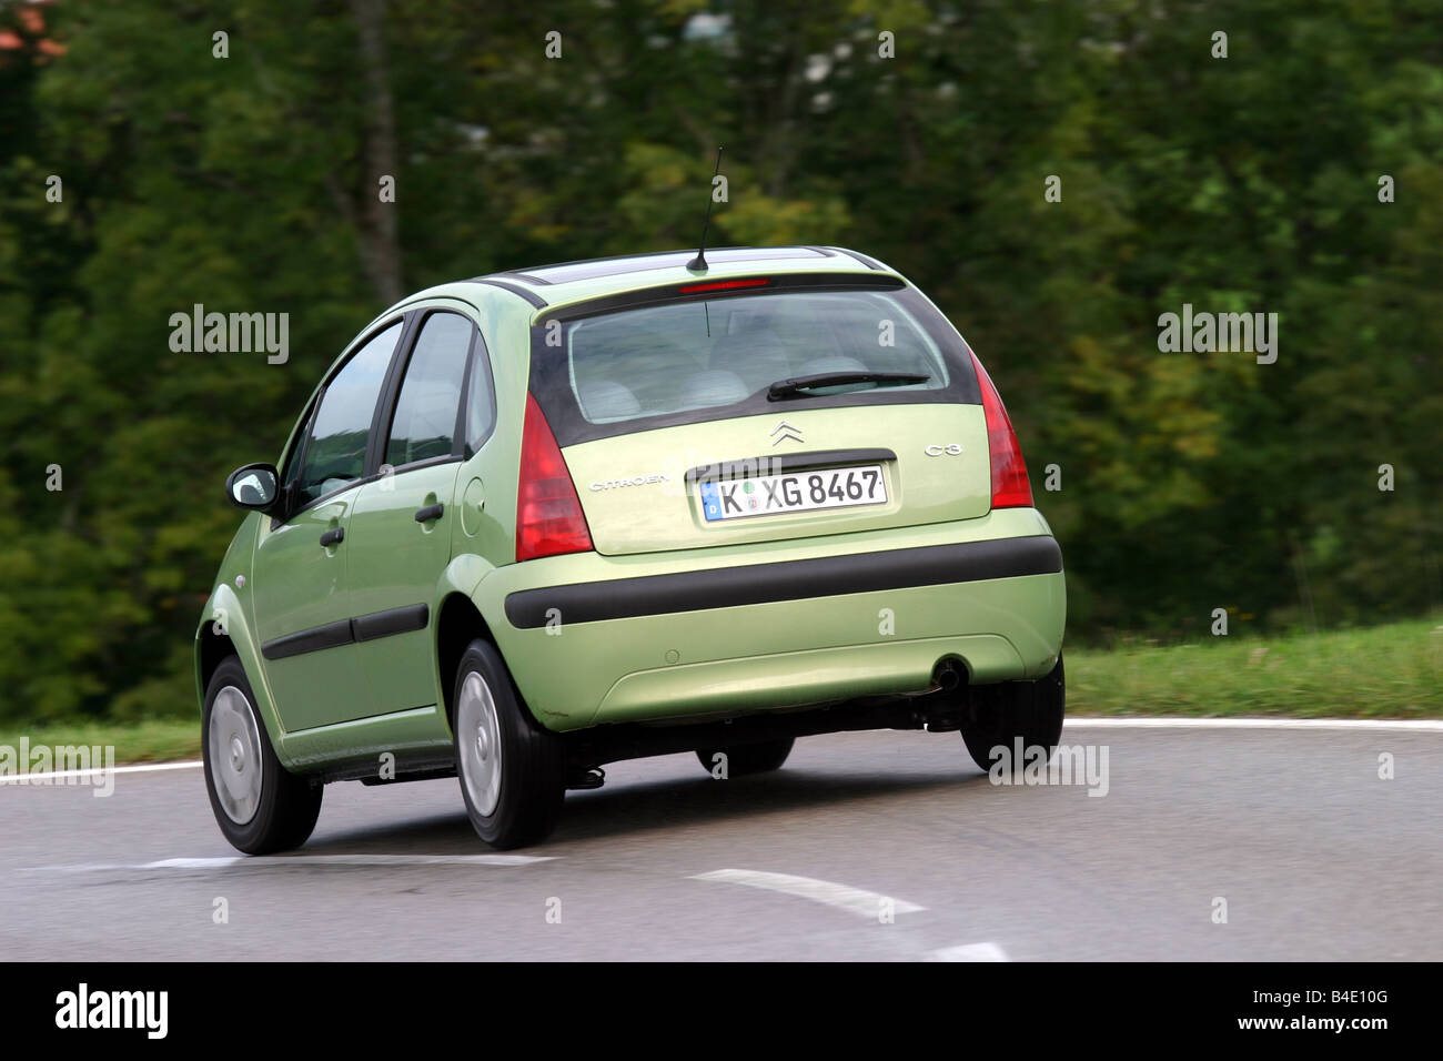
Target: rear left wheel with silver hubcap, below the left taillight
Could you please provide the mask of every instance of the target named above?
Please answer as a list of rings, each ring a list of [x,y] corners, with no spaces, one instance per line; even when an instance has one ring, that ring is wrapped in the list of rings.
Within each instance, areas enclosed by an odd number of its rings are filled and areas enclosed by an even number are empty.
[[[545,839],[566,798],[566,755],[531,717],[489,642],[466,647],[452,703],[456,774],[476,834],[498,850]]]

